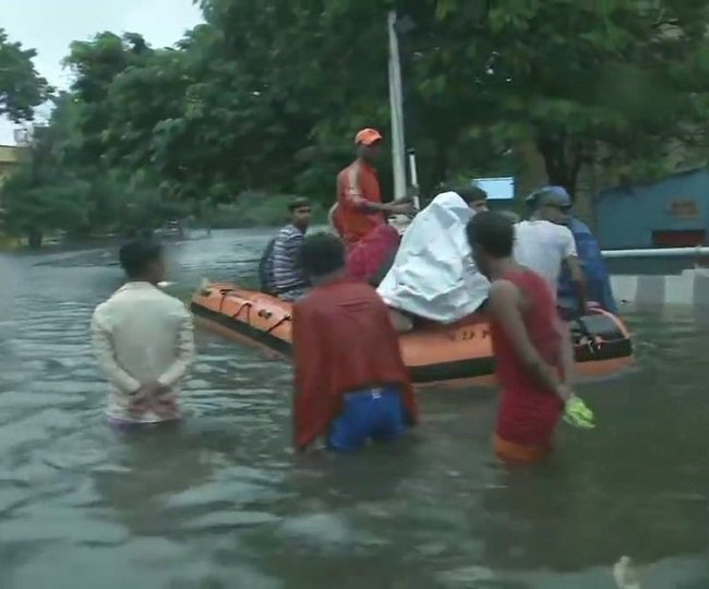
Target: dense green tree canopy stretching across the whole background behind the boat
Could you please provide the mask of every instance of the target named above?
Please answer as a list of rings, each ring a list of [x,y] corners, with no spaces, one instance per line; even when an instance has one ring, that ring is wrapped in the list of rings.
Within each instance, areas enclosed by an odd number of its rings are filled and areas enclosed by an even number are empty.
[[[205,23],[172,48],[108,32],[72,44],[74,82],[49,123],[51,158],[39,141],[29,175],[32,190],[51,183],[57,202],[58,184],[83,182],[83,192],[70,185],[87,213],[72,223],[120,220],[133,193],[166,204],[233,202],[248,191],[332,202],[356,130],[388,131],[392,8],[407,143],[424,188],[516,173],[521,145],[572,193],[590,164],[634,181],[663,173],[671,149],[704,160],[701,0],[200,3]],[[386,163],[382,171],[388,187]],[[22,178],[13,190],[25,190]],[[123,187],[108,191],[110,207],[95,202],[108,199],[94,188],[107,179]]]

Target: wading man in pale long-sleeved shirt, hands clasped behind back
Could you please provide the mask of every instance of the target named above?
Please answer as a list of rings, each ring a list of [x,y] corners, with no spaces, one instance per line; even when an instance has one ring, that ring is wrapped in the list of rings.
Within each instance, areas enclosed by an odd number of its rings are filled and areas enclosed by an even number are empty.
[[[179,419],[180,381],[194,359],[192,315],[157,286],[165,279],[158,242],[131,241],[119,259],[128,281],[96,308],[91,325],[94,352],[110,384],[109,421]]]

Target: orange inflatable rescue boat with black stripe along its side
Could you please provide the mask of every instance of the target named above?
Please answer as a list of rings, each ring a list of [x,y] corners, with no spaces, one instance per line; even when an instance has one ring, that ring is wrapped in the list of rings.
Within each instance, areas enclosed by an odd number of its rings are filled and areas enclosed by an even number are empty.
[[[291,303],[231,284],[211,284],[192,298],[197,323],[230,339],[288,357]],[[605,311],[572,324],[577,371],[613,374],[633,360],[625,325]],[[401,354],[417,385],[491,381],[494,357],[490,329],[480,313],[453,325],[426,324],[400,337]]]

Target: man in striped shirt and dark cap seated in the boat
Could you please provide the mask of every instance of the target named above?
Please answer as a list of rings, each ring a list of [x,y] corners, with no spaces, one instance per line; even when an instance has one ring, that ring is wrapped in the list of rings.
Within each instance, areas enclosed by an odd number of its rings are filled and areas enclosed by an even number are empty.
[[[302,297],[309,287],[298,256],[310,225],[311,206],[307,199],[296,199],[288,208],[291,220],[278,231],[273,245],[269,243],[266,248],[260,271],[265,274],[262,277],[262,283],[265,281],[265,285],[262,285],[264,291],[284,301],[295,301]]]

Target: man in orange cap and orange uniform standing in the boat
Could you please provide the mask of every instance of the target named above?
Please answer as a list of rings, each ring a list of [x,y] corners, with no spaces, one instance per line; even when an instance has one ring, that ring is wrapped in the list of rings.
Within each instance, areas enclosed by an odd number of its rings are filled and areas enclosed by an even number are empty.
[[[386,214],[413,212],[411,199],[404,196],[382,203],[380,180],[374,169],[382,146],[375,129],[362,129],[354,137],[357,159],[337,176],[337,208],[333,223],[347,249],[351,249],[372,229],[385,224]]]

